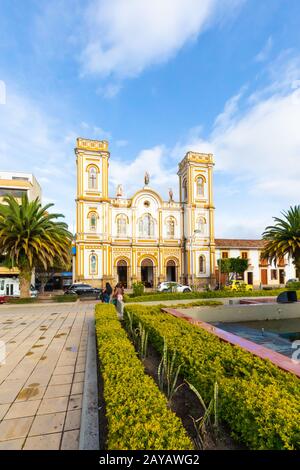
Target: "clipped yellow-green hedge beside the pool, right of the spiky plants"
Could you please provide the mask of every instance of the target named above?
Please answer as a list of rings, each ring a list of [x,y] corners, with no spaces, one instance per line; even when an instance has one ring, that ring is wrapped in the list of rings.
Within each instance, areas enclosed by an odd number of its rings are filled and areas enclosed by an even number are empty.
[[[209,402],[219,383],[219,413],[235,438],[252,449],[300,449],[299,379],[268,360],[221,341],[159,308],[128,305],[161,353],[163,338],[177,351],[181,373]]]

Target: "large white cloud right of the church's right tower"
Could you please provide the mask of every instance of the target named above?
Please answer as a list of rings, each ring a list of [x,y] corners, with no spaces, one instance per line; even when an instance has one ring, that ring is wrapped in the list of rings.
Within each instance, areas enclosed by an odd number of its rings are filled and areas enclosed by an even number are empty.
[[[281,65],[281,81],[245,99],[242,111],[234,96],[207,138],[200,129],[173,149],[177,160],[191,149],[214,153],[218,237],[259,237],[272,216],[300,202],[300,66],[298,58],[285,72]]]

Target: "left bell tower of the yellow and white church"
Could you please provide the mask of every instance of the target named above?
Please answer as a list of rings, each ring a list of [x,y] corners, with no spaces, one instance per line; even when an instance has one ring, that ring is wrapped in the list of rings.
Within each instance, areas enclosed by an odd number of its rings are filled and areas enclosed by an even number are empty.
[[[75,280],[99,286],[108,243],[108,142],[78,138]]]

